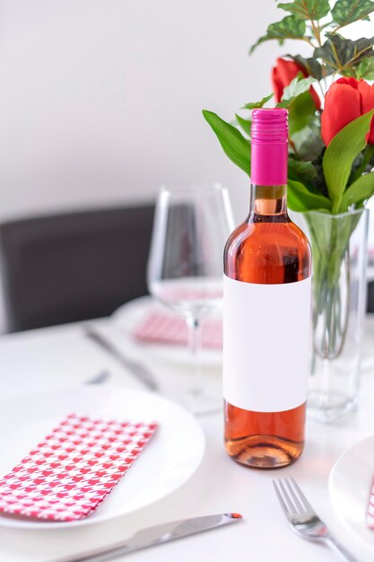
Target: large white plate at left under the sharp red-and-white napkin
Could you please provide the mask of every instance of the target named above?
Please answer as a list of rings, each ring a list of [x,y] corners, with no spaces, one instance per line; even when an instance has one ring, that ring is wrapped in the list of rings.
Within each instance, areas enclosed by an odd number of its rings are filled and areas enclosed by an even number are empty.
[[[0,474],[4,475],[67,414],[160,423],[126,476],[98,509],[79,522],[35,522],[0,515],[0,525],[57,529],[130,514],[180,487],[204,454],[204,434],[184,408],[151,392],[116,387],[78,387],[25,394],[0,402]]]

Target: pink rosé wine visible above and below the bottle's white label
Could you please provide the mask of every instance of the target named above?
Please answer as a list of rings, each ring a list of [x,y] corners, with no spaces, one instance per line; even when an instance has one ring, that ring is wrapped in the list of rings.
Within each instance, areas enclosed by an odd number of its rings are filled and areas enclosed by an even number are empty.
[[[285,186],[252,186],[248,219],[226,244],[224,272],[238,281],[273,285],[294,283],[310,276],[309,242],[287,215]],[[272,312],[287,315],[283,303]],[[247,319],[255,323],[258,320]],[[285,355],[291,353],[292,341]],[[281,360],[287,358],[280,357]],[[250,364],[248,356],[248,369]],[[248,411],[227,401],[224,408],[225,447],[235,461],[253,468],[274,469],[300,457],[304,447],[305,402],[297,408],[271,413]]]

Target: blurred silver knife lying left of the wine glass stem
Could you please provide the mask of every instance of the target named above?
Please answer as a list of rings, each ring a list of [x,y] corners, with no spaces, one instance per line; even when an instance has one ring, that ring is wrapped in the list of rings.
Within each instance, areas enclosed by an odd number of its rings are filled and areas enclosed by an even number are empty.
[[[84,326],[84,334],[87,338],[90,338],[91,341],[102,347],[102,349],[105,349],[111,356],[115,357],[130,373],[133,373],[139,381],[143,382],[150,391],[157,391],[158,386],[154,380],[154,376],[144,364],[127,357],[122,351],[117,349],[117,346],[113,344],[109,338],[101,334],[98,329],[92,328],[90,324]]]

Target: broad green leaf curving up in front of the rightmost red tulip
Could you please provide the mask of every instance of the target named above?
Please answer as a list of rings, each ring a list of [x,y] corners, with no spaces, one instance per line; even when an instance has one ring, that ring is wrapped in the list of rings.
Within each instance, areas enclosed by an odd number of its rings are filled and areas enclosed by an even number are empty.
[[[326,148],[323,170],[334,214],[339,211],[352,163],[367,144],[365,136],[370,130],[373,113],[371,110],[348,123]]]

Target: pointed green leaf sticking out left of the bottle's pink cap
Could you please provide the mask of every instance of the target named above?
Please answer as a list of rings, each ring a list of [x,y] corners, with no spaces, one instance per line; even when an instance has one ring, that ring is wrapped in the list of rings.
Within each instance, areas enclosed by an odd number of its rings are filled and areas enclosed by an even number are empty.
[[[229,156],[241,170],[250,175],[250,144],[247,138],[241,135],[239,130],[223,121],[216,113],[203,110],[204,119],[213,128],[223,152]]]

